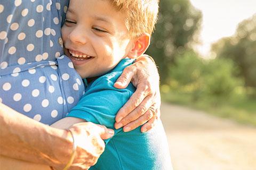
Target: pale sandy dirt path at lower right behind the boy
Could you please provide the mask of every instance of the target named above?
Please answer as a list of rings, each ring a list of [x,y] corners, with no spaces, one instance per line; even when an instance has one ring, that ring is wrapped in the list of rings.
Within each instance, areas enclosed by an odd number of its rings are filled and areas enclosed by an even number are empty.
[[[162,103],[174,170],[256,170],[256,128]]]

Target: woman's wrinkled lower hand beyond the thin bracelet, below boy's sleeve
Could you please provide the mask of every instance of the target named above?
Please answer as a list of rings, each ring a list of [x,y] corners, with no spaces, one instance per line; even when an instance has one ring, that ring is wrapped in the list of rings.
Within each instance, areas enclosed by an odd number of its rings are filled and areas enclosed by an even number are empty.
[[[102,139],[108,139],[114,135],[114,131],[107,129],[106,126],[91,122],[76,123],[69,130],[73,133],[77,145],[75,159],[70,170],[89,169],[90,166],[96,164],[105,149]]]

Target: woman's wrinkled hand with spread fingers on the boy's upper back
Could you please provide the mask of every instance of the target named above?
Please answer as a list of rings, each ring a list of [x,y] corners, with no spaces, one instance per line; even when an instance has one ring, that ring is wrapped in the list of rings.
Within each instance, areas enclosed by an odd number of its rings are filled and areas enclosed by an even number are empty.
[[[139,57],[134,64],[124,69],[114,87],[126,88],[130,82],[137,90],[118,111],[115,128],[124,126],[123,130],[128,132],[145,123],[141,132],[146,132],[153,128],[160,116],[159,74],[153,60],[148,56]]]

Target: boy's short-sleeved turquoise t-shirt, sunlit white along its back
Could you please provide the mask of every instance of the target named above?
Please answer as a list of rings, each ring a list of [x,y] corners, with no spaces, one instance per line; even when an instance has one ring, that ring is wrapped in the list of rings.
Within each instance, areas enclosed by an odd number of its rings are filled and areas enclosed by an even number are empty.
[[[85,94],[68,116],[83,118],[115,130],[115,135],[105,140],[106,148],[97,164],[90,169],[172,169],[169,147],[162,122],[141,133],[140,128],[124,132],[114,128],[115,116],[135,91],[130,83],[125,89],[114,88],[123,69],[134,60],[123,59],[105,75],[90,82]]]

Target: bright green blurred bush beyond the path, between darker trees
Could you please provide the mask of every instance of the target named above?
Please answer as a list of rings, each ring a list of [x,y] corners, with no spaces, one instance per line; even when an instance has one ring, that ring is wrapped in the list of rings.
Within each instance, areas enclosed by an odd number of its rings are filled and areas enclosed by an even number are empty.
[[[168,85],[171,89],[191,94],[195,101],[203,96],[227,99],[236,87],[243,86],[242,79],[235,77],[236,69],[231,60],[204,61],[189,50],[177,55],[174,63],[170,65]]]

